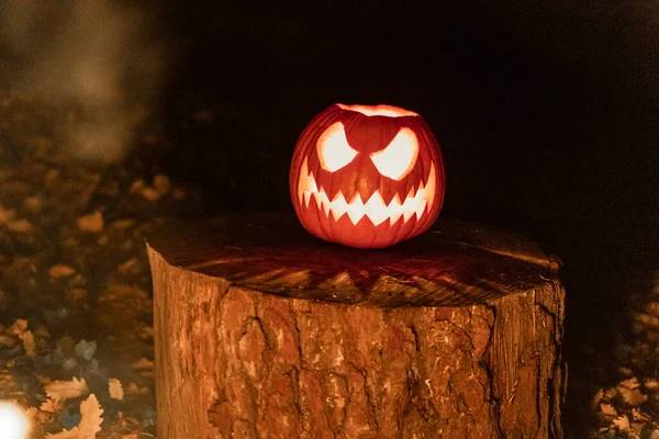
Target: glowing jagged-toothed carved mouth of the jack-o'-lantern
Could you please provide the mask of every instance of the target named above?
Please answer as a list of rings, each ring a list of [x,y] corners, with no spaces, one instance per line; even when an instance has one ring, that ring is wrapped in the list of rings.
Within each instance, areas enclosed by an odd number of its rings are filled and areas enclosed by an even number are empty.
[[[427,185],[424,187],[423,181],[420,181],[416,193],[413,193],[414,188],[412,188],[402,202],[400,195],[395,194],[391,202],[386,204],[382,195],[377,190],[366,202],[361,200],[359,193],[356,193],[353,200],[346,201],[340,191],[334,196],[334,200],[330,200],[323,188],[319,189],[313,175],[309,172],[308,159],[304,159],[298,181],[298,198],[305,207],[309,207],[313,199],[319,211],[324,211],[327,217],[332,214],[334,221],[338,221],[347,214],[354,225],[357,225],[365,216],[375,226],[384,223],[387,219],[389,219],[390,225],[394,225],[401,217],[403,223],[407,223],[414,215],[416,215],[416,219],[420,219],[424,212],[431,211],[436,180],[435,164],[431,164]]]

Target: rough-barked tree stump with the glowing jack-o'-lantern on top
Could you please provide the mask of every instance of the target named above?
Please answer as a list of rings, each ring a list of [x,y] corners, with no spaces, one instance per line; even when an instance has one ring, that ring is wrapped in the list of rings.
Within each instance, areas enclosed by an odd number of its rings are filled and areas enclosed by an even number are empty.
[[[562,438],[558,261],[439,221],[382,250],[288,215],[147,238],[158,438]]]

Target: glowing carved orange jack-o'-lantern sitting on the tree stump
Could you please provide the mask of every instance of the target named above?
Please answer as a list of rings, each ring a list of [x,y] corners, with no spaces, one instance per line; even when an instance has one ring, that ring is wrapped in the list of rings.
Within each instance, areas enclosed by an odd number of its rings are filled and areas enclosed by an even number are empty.
[[[425,232],[446,188],[439,145],[416,113],[334,104],[306,125],[293,153],[291,200],[321,239],[383,248]]]

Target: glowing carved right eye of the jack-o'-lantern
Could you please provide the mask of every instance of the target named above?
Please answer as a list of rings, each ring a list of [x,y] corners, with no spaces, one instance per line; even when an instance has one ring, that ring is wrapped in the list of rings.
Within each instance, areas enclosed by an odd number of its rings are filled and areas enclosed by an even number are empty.
[[[378,171],[393,180],[405,177],[416,162],[418,140],[410,128],[401,128],[387,148],[370,155]]]

